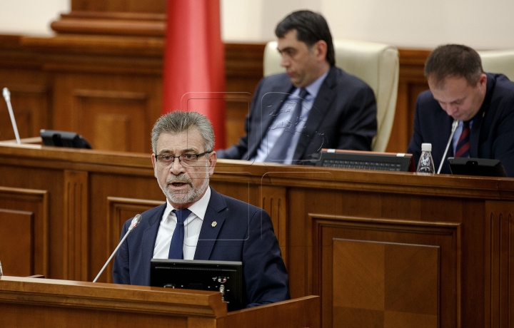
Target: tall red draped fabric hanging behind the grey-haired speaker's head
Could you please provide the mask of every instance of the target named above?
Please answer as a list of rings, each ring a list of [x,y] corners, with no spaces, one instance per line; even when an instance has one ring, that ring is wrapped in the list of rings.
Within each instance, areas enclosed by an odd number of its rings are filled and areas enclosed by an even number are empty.
[[[168,0],[163,113],[197,111],[225,148],[225,51],[219,0]]]

